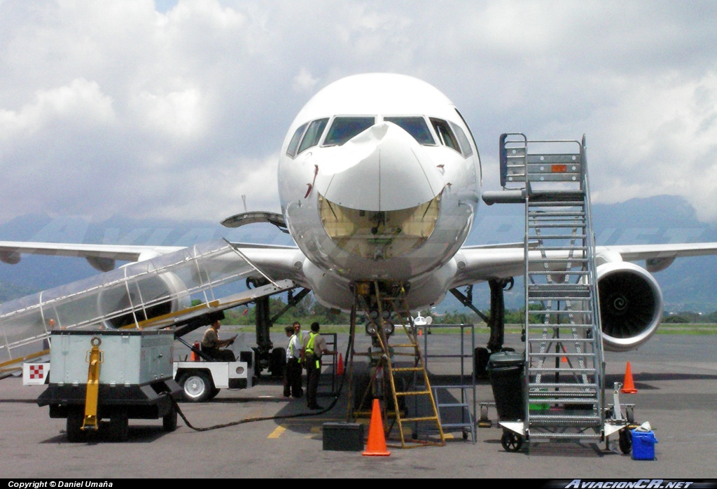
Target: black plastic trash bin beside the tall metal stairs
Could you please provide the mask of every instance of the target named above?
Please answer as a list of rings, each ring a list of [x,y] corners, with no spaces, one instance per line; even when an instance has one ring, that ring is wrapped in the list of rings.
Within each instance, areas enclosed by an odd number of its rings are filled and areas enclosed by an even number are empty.
[[[501,351],[488,359],[490,386],[493,387],[495,409],[500,421],[516,421],[525,417],[523,405],[523,353]]]

